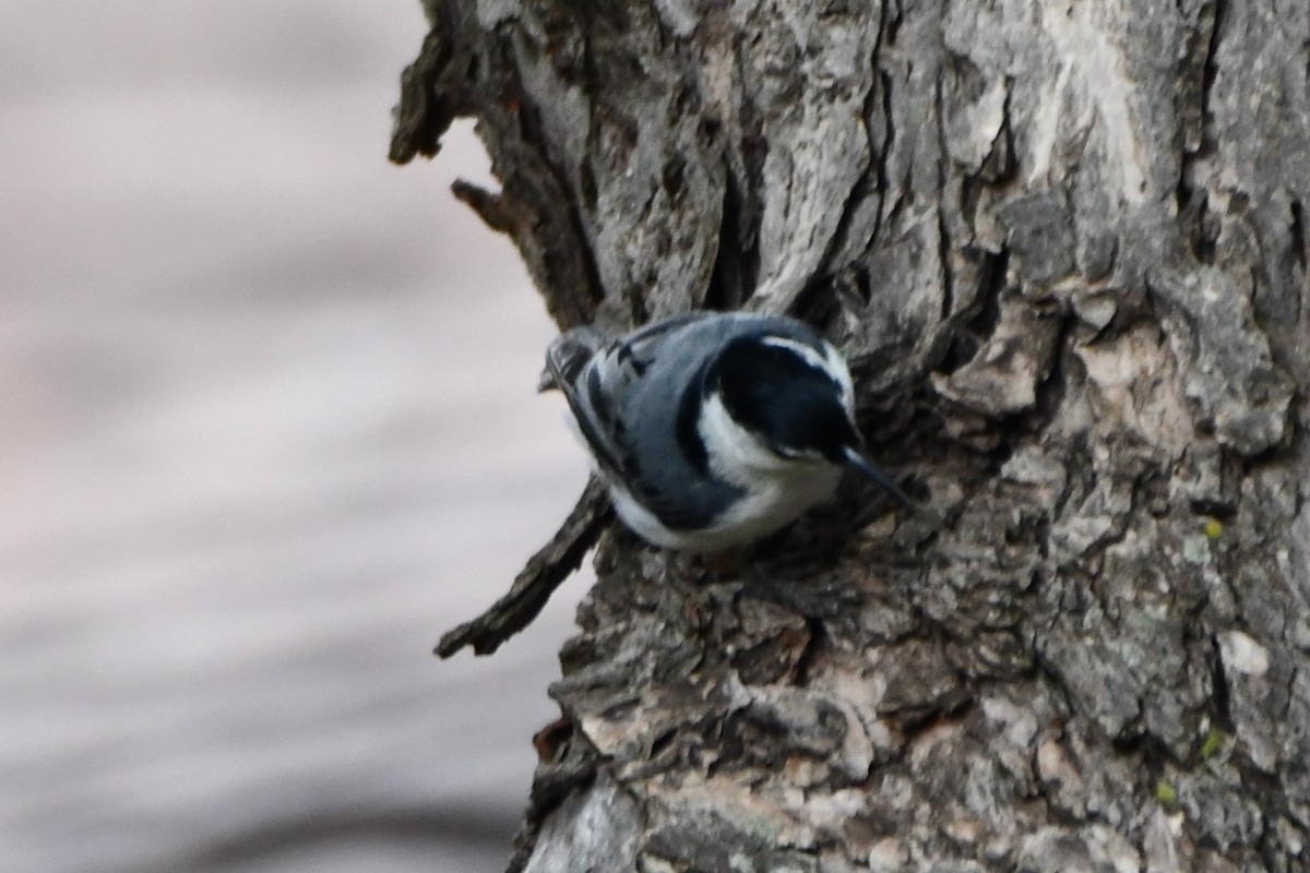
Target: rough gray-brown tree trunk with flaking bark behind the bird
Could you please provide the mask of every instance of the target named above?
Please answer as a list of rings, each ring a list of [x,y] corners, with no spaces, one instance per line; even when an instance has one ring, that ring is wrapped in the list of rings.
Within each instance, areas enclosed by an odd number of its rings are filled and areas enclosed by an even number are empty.
[[[511,869],[1310,869],[1310,4],[427,12],[561,327],[810,319],[943,520],[610,526]]]

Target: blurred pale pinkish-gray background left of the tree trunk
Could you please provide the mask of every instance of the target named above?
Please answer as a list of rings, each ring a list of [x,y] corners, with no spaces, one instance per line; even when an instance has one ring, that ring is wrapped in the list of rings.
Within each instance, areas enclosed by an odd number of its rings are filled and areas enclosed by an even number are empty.
[[[386,162],[418,0],[0,13],[0,872],[502,870],[586,479],[512,246]]]

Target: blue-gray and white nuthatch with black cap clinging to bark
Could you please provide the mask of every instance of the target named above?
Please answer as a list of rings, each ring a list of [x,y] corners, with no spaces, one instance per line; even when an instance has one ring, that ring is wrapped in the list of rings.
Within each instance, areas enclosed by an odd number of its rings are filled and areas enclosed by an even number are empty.
[[[845,359],[795,318],[575,327],[546,351],[552,387],[620,520],[654,546],[713,554],[766,537],[831,499],[845,469],[912,505],[869,458]]]

